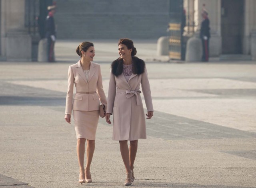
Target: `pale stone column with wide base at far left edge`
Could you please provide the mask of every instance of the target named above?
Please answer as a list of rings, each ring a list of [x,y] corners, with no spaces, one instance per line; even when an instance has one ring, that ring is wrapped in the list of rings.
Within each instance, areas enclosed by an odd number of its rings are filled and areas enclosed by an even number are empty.
[[[25,0],[2,0],[1,2],[3,55],[6,56],[7,61],[31,61],[32,41],[24,26]]]

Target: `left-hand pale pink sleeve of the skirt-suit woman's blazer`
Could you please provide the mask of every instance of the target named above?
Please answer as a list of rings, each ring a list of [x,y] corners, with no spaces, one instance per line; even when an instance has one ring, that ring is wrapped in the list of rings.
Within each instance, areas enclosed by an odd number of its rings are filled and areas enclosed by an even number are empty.
[[[73,100],[73,89],[74,89],[74,73],[69,66],[68,68],[68,92],[66,97],[66,111],[65,114],[72,114],[72,100]]]

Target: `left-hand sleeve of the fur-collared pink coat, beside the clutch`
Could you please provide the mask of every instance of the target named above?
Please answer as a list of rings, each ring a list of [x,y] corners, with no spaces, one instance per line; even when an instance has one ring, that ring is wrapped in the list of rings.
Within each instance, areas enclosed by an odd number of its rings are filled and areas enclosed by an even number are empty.
[[[116,97],[116,80],[115,80],[114,74],[110,72],[110,79],[109,79],[109,85],[108,85],[107,113],[113,114],[115,97]]]

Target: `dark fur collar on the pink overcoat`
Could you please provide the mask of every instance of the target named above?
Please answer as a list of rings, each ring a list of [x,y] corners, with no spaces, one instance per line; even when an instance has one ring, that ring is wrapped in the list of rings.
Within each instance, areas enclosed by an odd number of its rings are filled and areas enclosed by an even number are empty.
[[[144,72],[145,68],[145,62],[142,59],[139,59],[138,57],[133,56],[132,61],[134,63],[134,66],[132,66],[132,72],[134,74],[142,74]],[[119,76],[123,72],[123,59],[118,58],[111,64],[112,73],[115,76]]]

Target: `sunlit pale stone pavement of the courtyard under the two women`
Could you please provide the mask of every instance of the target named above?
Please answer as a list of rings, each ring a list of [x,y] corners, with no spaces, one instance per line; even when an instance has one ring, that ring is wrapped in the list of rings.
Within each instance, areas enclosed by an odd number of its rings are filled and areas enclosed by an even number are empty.
[[[68,66],[80,41],[58,41],[57,63],[0,62],[0,188],[75,188],[74,124],[65,123]],[[98,40],[108,91],[116,41]],[[147,61],[154,117],[134,167],[138,188],[256,187],[256,62],[166,63],[156,41],[134,40]],[[145,106],[145,104],[144,104]],[[125,170],[112,125],[100,118],[86,187],[122,187]]]

